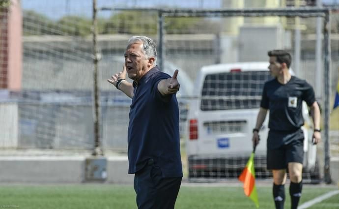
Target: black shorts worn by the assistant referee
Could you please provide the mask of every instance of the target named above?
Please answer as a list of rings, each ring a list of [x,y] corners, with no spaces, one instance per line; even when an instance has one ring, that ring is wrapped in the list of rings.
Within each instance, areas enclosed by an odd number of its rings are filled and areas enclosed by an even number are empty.
[[[304,134],[301,129],[292,133],[270,131],[267,139],[267,169],[287,169],[288,163],[303,164]]]

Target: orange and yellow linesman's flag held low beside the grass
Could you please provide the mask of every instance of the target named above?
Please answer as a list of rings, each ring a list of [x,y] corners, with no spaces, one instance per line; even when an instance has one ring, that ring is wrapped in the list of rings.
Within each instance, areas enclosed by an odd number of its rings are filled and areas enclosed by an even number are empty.
[[[244,182],[245,195],[251,198],[251,200],[255,203],[256,208],[259,208],[259,200],[255,188],[254,152],[252,152],[245,169],[238,179]]]

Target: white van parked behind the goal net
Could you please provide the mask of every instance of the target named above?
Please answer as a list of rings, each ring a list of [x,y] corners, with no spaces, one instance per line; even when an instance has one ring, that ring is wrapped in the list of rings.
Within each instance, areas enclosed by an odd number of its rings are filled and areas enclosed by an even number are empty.
[[[252,130],[263,85],[272,79],[268,62],[239,62],[201,68],[187,115],[189,178],[236,178],[253,150]],[[255,150],[256,177],[268,177],[266,139],[268,115]],[[304,176],[318,179],[316,147],[311,143],[312,120],[303,104],[305,125]],[[311,177],[312,176],[312,177]]]

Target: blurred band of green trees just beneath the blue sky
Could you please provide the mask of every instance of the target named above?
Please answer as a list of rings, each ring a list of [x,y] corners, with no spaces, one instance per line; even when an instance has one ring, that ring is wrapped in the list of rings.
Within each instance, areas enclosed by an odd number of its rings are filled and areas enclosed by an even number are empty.
[[[85,37],[91,34],[92,19],[81,16],[64,16],[55,21],[35,11],[24,10],[24,35],[72,35]],[[99,34],[145,34],[158,31],[158,13],[154,11],[122,11],[109,19],[98,18]],[[201,17],[166,17],[167,34],[218,33],[219,22]]]

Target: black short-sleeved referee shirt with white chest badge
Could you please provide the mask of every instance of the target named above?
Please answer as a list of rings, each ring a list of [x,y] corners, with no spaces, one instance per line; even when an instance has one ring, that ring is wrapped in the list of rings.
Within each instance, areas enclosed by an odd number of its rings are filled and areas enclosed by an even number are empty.
[[[266,82],[260,106],[269,109],[270,130],[298,130],[304,124],[302,101],[308,106],[315,102],[314,90],[305,80],[292,76],[286,84],[277,79]]]

